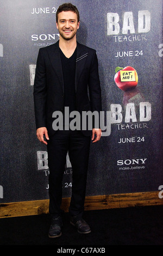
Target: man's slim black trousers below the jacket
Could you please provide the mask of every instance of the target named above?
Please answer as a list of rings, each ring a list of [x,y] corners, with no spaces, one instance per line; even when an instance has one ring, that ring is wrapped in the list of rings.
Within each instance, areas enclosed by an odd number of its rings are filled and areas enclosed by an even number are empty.
[[[77,130],[58,130],[48,141],[49,213],[54,217],[61,212],[62,178],[67,151],[72,166],[72,195],[69,212],[70,215],[78,217],[83,215],[90,141],[91,136],[86,137]]]

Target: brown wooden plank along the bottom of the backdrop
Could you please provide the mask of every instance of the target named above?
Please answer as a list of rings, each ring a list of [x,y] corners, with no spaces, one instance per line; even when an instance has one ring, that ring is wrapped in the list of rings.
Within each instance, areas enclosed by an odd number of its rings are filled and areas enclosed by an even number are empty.
[[[85,210],[102,210],[134,206],[163,205],[158,191],[126,194],[88,196],[85,198]],[[62,198],[62,209],[68,212],[70,198]],[[48,213],[49,200],[34,200],[0,204],[0,218],[39,215]]]

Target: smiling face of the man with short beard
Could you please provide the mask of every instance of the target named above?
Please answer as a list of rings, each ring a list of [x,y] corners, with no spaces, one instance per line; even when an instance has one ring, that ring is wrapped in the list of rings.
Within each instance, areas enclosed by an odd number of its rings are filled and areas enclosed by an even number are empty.
[[[62,11],[58,14],[58,22],[56,22],[59,34],[65,40],[70,40],[76,35],[79,23],[77,14],[73,11]]]

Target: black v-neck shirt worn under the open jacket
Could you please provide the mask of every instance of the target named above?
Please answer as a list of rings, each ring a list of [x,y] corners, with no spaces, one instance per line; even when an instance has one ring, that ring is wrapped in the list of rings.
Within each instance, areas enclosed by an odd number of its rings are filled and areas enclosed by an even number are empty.
[[[76,55],[77,48],[70,58],[67,58],[60,50],[62,71],[64,76],[64,106],[69,107],[69,113],[76,110]]]

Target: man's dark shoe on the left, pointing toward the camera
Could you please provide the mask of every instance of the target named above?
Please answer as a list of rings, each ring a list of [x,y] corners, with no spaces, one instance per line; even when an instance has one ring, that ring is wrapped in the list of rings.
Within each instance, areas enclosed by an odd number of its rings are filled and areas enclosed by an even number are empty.
[[[55,238],[61,236],[62,220],[61,217],[52,218],[51,227],[49,228],[49,238]]]

